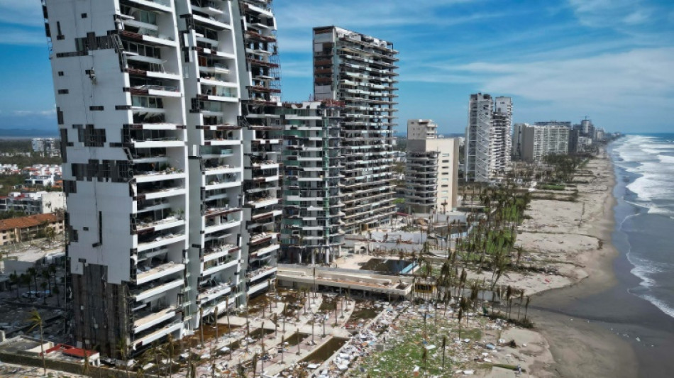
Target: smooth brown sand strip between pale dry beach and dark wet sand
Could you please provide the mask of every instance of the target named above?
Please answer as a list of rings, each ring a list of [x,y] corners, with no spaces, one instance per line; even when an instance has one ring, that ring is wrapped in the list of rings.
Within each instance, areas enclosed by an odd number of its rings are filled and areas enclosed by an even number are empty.
[[[546,367],[553,377],[638,375],[638,362],[631,345],[590,319],[574,318],[565,311],[573,307],[573,301],[600,294],[618,284],[614,262],[619,257],[619,250],[612,240],[616,226],[614,207],[617,199],[613,194],[616,177],[613,162],[607,160],[606,173],[610,178],[604,194],[602,217],[588,220],[592,222],[588,234],[603,241],[601,250],[585,252],[581,257],[585,262],[585,277],[565,287],[541,291],[532,301],[535,304],[532,318],[555,360],[553,365]]]

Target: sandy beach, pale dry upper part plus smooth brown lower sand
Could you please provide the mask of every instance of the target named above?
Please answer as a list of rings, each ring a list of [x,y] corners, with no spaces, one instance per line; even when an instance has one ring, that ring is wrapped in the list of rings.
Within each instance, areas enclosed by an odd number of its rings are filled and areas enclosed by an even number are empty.
[[[615,200],[612,163],[593,159],[576,175],[578,199],[531,201],[517,238],[527,262],[548,273],[508,274],[500,283],[534,295],[536,330],[548,345],[531,365],[534,377],[636,377],[628,343],[591,321],[564,313],[565,303],[616,284],[611,243]],[[564,288],[560,290],[551,290]],[[543,293],[545,291],[545,293]],[[552,359],[549,357],[551,352]]]

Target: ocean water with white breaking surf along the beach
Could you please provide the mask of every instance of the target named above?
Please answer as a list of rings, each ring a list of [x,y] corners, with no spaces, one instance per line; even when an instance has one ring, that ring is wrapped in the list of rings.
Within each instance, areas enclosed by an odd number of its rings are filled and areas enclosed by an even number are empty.
[[[641,279],[629,292],[674,317],[674,133],[628,135],[609,147],[617,233]]]

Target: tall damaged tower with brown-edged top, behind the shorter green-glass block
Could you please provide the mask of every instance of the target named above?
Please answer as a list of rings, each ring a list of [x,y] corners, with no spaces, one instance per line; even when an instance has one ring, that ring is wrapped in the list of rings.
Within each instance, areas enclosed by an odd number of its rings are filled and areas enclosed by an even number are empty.
[[[314,28],[314,98],[343,101],[343,230],[390,223],[395,206],[393,127],[397,50],[370,35]]]

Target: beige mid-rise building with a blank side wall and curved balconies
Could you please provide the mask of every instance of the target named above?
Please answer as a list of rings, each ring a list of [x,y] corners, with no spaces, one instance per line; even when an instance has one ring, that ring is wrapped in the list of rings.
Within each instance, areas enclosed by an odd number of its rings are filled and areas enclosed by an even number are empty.
[[[444,213],[457,205],[458,138],[438,138],[431,120],[407,121],[405,204],[414,213]]]

